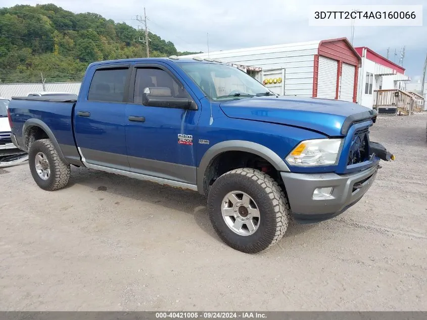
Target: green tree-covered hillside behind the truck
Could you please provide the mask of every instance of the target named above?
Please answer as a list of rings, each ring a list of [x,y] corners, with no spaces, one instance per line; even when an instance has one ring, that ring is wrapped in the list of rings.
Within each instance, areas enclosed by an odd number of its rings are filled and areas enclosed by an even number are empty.
[[[150,57],[179,53],[149,33]],[[74,14],[53,4],[0,9],[0,83],[80,81],[89,63],[144,58],[144,32],[96,13]]]

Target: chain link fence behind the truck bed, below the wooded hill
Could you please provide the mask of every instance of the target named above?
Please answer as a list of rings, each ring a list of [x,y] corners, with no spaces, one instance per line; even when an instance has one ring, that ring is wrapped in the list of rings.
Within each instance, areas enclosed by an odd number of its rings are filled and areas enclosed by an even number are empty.
[[[31,93],[58,92],[78,95],[81,82],[7,83],[0,84],[0,97],[26,97]]]

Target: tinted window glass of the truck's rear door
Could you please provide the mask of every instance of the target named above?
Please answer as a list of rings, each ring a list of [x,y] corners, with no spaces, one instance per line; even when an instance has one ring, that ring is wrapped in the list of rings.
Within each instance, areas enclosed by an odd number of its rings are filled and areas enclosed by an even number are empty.
[[[90,82],[89,101],[122,102],[128,69],[95,71]]]

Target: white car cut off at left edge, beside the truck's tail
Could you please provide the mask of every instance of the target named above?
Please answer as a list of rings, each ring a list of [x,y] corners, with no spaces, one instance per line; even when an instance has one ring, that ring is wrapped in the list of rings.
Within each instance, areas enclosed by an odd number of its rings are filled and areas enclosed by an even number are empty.
[[[0,168],[18,164],[28,159],[27,154],[12,143],[8,105],[9,100],[0,97]]]

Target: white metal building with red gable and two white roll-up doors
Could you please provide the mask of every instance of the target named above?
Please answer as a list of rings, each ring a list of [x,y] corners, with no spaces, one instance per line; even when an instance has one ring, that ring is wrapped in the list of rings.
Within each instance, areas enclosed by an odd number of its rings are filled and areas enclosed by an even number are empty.
[[[195,54],[184,57],[260,67],[252,73],[280,95],[356,102],[360,56],[347,38]]]

